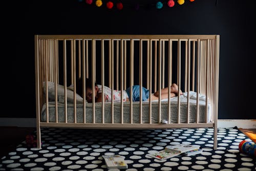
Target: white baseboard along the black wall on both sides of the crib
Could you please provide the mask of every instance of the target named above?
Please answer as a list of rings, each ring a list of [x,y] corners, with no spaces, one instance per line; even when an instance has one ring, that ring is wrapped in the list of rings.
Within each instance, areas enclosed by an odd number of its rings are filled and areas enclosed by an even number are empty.
[[[0,126],[36,127],[36,118],[0,118]],[[256,120],[219,119],[218,128],[234,127],[256,129]]]

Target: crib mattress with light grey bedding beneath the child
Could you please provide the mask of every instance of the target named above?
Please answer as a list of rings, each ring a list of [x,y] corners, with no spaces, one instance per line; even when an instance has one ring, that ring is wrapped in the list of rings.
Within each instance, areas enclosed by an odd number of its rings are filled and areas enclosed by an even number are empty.
[[[196,109],[197,100],[196,93],[190,92],[190,106],[189,106],[189,122],[196,122]],[[144,101],[142,104],[142,121],[143,123],[149,123],[149,102]],[[83,104],[76,104],[76,121],[78,123],[83,123],[84,113]],[[95,103],[95,122],[101,123],[102,113],[101,113],[101,102]],[[86,122],[93,122],[93,105],[92,103],[86,103]],[[121,104],[120,102],[114,103],[114,123],[121,122]],[[206,103],[205,96],[199,96],[199,122],[205,122],[206,117]],[[170,99],[170,122],[177,123],[177,111],[178,111],[178,97],[173,97]],[[46,122],[46,104],[43,105],[41,111],[41,121]],[[58,122],[65,122],[65,104],[58,102]],[[105,102],[104,110],[104,122],[111,123],[112,112],[111,112],[111,102]],[[130,123],[130,102],[123,102],[123,123]],[[133,123],[139,123],[140,118],[140,103],[133,102]],[[161,119],[168,120],[168,99],[164,99],[161,102]],[[68,103],[67,105],[67,119],[68,122],[74,122],[74,104]],[[152,101],[152,123],[159,123],[158,121],[158,101]],[[183,93],[180,96],[180,123],[187,122],[187,93]],[[55,117],[55,102],[49,102],[49,122],[56,122]],[[208,103],[207,111],[207,123],[212,122],[211,105]]]

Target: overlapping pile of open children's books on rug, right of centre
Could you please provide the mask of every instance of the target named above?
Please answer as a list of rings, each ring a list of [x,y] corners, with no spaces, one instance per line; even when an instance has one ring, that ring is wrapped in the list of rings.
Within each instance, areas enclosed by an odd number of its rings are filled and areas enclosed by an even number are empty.
[[[158,160],[165,160],[168,158],[178,156],[185,152],[193,151],[195,149],[199,149],[199,146],[198,145],[179,144],[179,145],[174,145],[172,147],[165,147],[163,150],[161,150],[157,153],[147,154],[147,156],[154,157]]]

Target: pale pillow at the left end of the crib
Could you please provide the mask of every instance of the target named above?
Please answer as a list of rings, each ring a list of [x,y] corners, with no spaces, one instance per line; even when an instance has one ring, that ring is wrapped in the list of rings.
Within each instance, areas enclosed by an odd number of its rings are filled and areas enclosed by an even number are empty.
[[[46,94],[46,88],[45,88],[45,82],[42,83],[42,87],[44,89],[44,94]],[[64,96],[64,90],[65,87],[57,84],[57,98],[58,101],[61,103],[65,102],[65,96]],[[48,81],[48,98],[51,101],[55,100],[55,83]],[[74,92],[73,92],[73,86],[67,87],[67,102],[68,103],[74,103]],[[83,103],[83,98],[76,93],[76,103]]]

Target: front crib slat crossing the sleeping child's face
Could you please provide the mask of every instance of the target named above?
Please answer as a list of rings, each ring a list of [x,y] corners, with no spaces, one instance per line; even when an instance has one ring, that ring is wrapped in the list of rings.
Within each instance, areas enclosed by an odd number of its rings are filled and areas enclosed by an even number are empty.
[[[95,39],[92,39],[92,89],[93,89],[93,123],[95,123]]]

